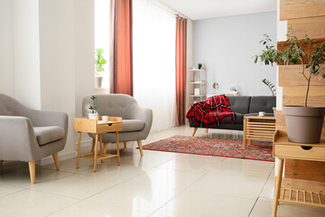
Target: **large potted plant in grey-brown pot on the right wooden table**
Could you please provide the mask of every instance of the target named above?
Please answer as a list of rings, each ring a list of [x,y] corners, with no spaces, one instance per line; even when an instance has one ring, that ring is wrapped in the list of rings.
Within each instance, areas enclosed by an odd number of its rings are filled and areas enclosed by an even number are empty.
[[[255,55],[255,62],[260,60],[265,65],[273,65],[281,63],[284,65],[301,64],[301,73],[306,80],[306,94],[304,106],[283,106],[283,114],[287,127],[289,141],[296,143],[319,143],[321,129],[324,121],[325,109],[321,107],[308,106],[308,95],[311,86],[311,77],[320,76],[325,78],[323,65],[325,63],[325,42],[320,45],[313,45],[313,40],[306,37],[298,40],[295,36],[289,36],[288,40],[283,43],[284,50],[280,51],[269,45],[271,39],[265,35],[265,40],[261,43],[265,45],[265,49]],[[310,52],[306,52],[303,46],[310,48]]]

